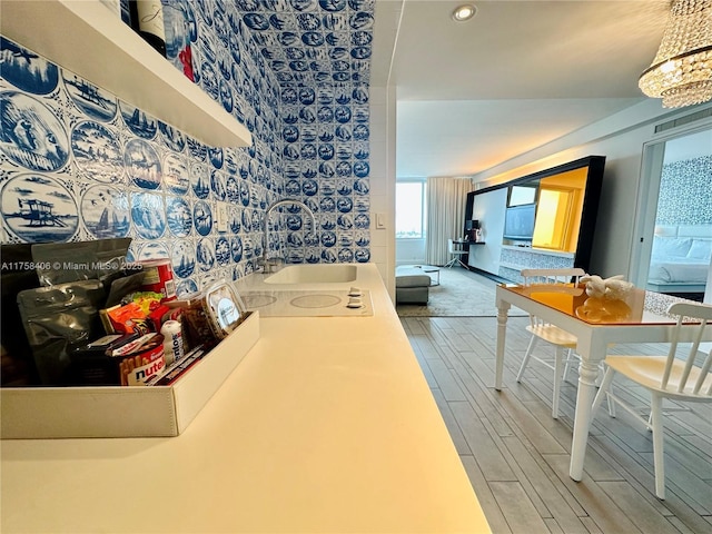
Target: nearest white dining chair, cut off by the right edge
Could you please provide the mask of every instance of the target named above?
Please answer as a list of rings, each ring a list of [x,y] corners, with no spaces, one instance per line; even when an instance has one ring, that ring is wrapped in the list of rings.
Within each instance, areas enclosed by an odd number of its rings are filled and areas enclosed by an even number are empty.
[[[663,458],[663,398],[679,402],[712,402],[712,350],[703,357],[702,365],[696,366],[700,339],[708,323],[712,322],[712,306],[699,303],[675,303],[668,308],[670,315],[678,317],[670,350],[666,356],[606,356],[606,367],[601,388],[593,400],[592,413],[601,405],[603,397],[614,402],[645,427],[653,432],[653,465],[655,471],[655,495],[665,498],[665,466]],[[696,335],[686,357],[678,357],[680,332],[685,317],[696,319]],[[689,328],[689,327],[688,327]],[[630,404],[611,392],[616,374],[633,380],[647,389],[651,396],[650,417],[642,417]],[[609,408],[609,413],[611,409]],[[613,414],[611,414],[614,416]]]

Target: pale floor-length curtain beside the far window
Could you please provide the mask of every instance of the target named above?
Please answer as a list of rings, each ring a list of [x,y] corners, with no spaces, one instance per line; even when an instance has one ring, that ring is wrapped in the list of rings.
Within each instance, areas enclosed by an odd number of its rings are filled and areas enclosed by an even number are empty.
[[[429,177],[427,179],[427,230],[425,260],[445,265],[449,259],[447,239],[465,235],[465,202],[474,190],[469,178]]]

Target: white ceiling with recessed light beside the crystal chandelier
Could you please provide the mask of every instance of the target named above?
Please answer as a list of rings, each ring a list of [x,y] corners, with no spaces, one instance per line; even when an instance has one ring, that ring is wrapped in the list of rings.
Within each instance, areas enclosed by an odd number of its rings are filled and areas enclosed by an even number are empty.
[[[640,102],[670,0],[376,0],[372,86],[396,87],[398,178],[466,176]],[[389,78],[388,78],[389,77]]]

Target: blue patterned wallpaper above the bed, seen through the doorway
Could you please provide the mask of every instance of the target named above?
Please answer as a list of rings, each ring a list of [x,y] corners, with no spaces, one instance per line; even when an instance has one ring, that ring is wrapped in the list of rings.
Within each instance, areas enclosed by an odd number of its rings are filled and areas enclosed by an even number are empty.
[[[655,224],[712,225],[712,155],[663,165]]]

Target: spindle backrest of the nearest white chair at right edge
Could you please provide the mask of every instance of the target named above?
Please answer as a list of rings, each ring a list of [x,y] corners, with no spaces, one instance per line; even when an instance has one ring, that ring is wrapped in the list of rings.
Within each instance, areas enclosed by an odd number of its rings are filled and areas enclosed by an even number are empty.
[[[700,342],[702,340],[702,336],[704,335],[704,330],[708,327],[710,320],[712,320],[712,306],[699,303],[674,303],[668,308],[668,313],[673,316],[678,316],[678,322],[675,325],[675,330],[673,337],[671,339],[670,352],[668,354],[668,360],[665,362],[665,369],[663,372],[663,376],[661,379],[661,387],[666,389],[670,385],[670,378],[672,375],[673,364],[675,362],[676,353],[678,353],[678,344],[680,342],[680,335],[682,328],[694,328],[695,333],[692,336],[692,344],[690,347],[690,352],[688,353],[688,357],[684,363],[684,367],[682,374],[679,377],[675,377],[678,380],[676,384],[672,384],[674,389],[678,393],[685,392],[688,387],[688,382],[690,380],[690,376],[692,374],[692,369],[694,367],[694,362],[698,356],[698,350],[700,348]],[[689,323],[694,324],[689,324]],[[692,393],[694,395],[700,395],[700,390],[704,385],[704,382],[710,373],[710,368],[712,367],[712,350],[710,355],[705,358],[702,367],[699,368],[700,375],[698,376],[695,384],[692,387]],[[706,388],[706,392],[703,392],[702,395],[711,395],[712,394],[712,385]]]

